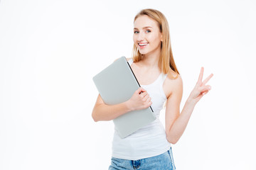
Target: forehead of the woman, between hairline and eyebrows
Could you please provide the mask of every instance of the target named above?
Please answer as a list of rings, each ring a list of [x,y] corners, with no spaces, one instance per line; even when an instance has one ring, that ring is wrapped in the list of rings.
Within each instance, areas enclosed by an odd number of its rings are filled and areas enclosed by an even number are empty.
[[[158,28],[158,23],[154,21],[154,19],[150,18],[149,16],[139,16],[135,21],[134,21],[134,28],[144,28],[146,26],[150,26],[152,28]]]

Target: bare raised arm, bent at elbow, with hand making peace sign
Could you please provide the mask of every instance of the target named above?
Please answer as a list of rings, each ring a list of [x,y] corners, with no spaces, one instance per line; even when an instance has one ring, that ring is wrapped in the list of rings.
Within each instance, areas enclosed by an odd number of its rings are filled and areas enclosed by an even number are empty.
[[[188,97],[181,113],[179,113],[179,106],[181,103],[182,96],[182,80],[180,77],[176,80],[174,84],[175,90],[173,94],[169,96],[166,103],[166,137],[167,140],[173,144],[178,142],[181,135],[188,125],[188,120],[191,117],[193,109],[196,106],[196,103],[207,94],[210,90],[210,86],[207,86],[206,83],[213,77],[213,74],[210,74],[203,82],[203,67],[201,68],[201,73],[196,83],[195,88],[191,91],[190,96]]]

